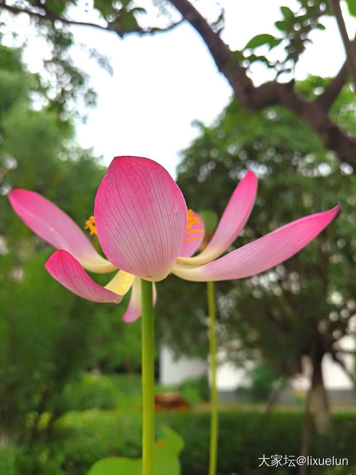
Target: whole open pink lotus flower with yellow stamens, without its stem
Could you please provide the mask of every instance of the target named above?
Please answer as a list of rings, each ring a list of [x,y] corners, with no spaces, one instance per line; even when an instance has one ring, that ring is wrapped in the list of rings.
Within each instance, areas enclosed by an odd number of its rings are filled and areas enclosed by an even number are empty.
[[[337,205],[298,219],[219,258],[244,227],[256,191],[256,175],[249,171],[234,190],[209,244],[194,257],[204,237],[203,220],[187,210],[168,172],[148,158],[115,157],[97,190],[94,218],[87,227],[97,234],[107,259],[66,213],[43,196],[13,190],[9,199],[27,226],[58,249],[45,264],[54,279],[96,302],[120,302],[132,286],[124,320],[133,322],[141,315],[140,279],[157,282],[173,273],[206,282],[259,274],[307,245],[339,210]],[[120,270],[103,287],[85,269],[100,274]]]

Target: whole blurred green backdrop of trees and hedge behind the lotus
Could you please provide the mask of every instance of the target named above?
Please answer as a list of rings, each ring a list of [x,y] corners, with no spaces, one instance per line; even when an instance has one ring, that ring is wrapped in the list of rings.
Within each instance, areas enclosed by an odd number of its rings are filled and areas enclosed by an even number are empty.
[[[94,92],[66,57],[70,35],[52,35],[56,94],[27,70],[21,49],[0,46],[1,475],[85,475],[100,458],[139,457],[141,450],[140,322],[122,322],[129,295],[120,305],[101,305],[60,286],[44,269],[52,248],[25,227],[6,196],[13,188],[37,191],[84,228],[105,171],[101,157],[77,144],[79,112],[66,107],[80,100],[92,105]],[[312,99],[328,83],[311,76],[296,88]],[[347,83],[330,114],[350,135],[355,108]],[[269,473],[258,468],[260,457],[297,456],[303,443],[314,457],[349,459],[349,467],[308,473],[352,473],[355,397],[330,404],[321,362],[331,356],[356,387],[354,352],[350,370],[341,344],[356,336],[356,176],[281,106],[248,112],[231,100],[213,125],[195,125],[197,138],[181,151],[177,176],[188,207],[221,216],[245,171],[259,177],[254,210],[231,249],[338,201],[342,206],[318,238],[272,272],[216,285],[219,346],[250,380],[221,403],[218,474]],[[100,251],[95,236],[92,241]],[[95,280],[104,285],[108,277]],[[162,345],[177,357],[207,358],[205,285],[170,276],[157,287],[156,392],[178,391],[190,404],[158,412],[157,435],[163,425],[177,430],[185,442],[182,474],[203,475],[207,376],[167,386],[158,369]],[[279,396],[304,358],[313,370],[311,389],[283,404]]]

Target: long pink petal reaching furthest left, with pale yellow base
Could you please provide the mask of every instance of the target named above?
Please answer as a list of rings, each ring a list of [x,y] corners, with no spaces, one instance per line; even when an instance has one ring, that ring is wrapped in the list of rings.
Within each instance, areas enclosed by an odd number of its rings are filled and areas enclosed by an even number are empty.
[[[53,247],[70,252],[89,271],[105,273],[115,270],[96,252],[72,218],[40,194],[13,190],[9,200],[15,213],[34,233]]]

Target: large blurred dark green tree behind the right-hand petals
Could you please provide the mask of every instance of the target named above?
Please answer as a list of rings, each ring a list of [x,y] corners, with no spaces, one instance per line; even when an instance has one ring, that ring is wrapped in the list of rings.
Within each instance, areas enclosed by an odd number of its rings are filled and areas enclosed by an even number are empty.
[[[310,95],[325,84],[326,80],[311,77],[297,88]],[[355,128],[354,107],[355,96],[347,86],[331,116]],[[232,101],[213,126],[196,126],[199,137],[182,152],[178,166],[177,183],[188,207],[197,212],[214,210],[221,216],[245,171],[253,170],[259,177],[255,207],[231,249],[341,202],[337,219],[287,262],[259,276],[217,283],[218,333],[227,359],[237,365],[248,359],[260,361],[288,378],[301,371],[302,357],[309,356],[313,390],[321,396],[314,399],[326,409],[321,359],[328,352],[343,366],[340,340],[355,336],[356,177],[352,168],[340,166],[317,134],[279,106],[246,112]],[[172,277],[159,285],[159,293],[159,316],[168,343],[177,352],[204,354],[208,348],[205,285],[184,281],[177,285]],[[349,377],[355,382],[355,375]]]

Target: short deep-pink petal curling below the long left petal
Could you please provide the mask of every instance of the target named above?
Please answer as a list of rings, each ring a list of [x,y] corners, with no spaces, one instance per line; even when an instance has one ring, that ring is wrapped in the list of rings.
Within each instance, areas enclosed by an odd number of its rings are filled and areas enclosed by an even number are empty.
[[[93,302],[120,302],[123,295],[95,284],[69,252],[55,251],[45,263],[49,274],[68,290]]]

